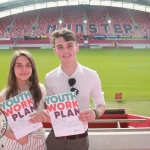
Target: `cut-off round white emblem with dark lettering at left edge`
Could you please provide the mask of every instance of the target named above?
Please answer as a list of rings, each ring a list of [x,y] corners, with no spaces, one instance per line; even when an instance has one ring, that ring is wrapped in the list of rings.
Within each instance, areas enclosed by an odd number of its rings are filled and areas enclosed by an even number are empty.
[[[7,118],[2,110],[0,110],[0,138],[5,134],[7,130]]]

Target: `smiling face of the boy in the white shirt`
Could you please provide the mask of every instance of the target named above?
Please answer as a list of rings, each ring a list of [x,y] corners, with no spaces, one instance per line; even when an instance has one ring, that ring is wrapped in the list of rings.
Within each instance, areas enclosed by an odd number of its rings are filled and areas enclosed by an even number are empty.
[[[76,61],[78,51],[79,46],[75,41],[65,41],[61,36],[55,39],[54,53],[60,58],[61,63]]]

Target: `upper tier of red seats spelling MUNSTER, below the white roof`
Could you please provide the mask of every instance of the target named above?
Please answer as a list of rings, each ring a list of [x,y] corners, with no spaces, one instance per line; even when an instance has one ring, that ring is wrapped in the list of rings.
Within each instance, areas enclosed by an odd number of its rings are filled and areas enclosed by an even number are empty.
[[[61,27],[70,24],[70,28],[77,34],[83,33],[80,27],[79,30],[76,27],[76,25],[81,25],[83,28],[83,18],[87,18],[86,30],[89,35],[144,36],[149,34],[150,15],[147,12],[104,6],[91,6],[87,10],[81,10],[77,6],[65,6],[2,18],[0,19],[0,36],[4,37],[5,29],[10,24],[13,26],[5,36],[6,38],[18,38],[25,35],[46,36],[58,29],[60,17],[63,19]],[[109,18],[112,21],[111,24],[108,24]],[[33,24],[36,25],[34,29],[32,29]],[[129,25],[131,29],[126,31],[124,25]],[[137,28],[135,25],[138,25]]]

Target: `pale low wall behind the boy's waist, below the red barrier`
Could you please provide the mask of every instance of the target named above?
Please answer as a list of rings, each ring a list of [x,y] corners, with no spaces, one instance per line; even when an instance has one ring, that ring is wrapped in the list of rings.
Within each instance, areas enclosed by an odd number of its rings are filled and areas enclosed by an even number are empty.
[[[46,128],[46,137],[50,128]],[[89,150],[149,150],[150,128],[89,128]]]

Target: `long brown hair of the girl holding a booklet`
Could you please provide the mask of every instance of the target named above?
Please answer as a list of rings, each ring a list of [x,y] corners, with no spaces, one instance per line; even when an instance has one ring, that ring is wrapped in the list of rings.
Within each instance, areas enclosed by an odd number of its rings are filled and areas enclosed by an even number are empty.
[[[39,79],[38,79],[34,59],[33,59],[32,55],[27,51],[23,51],[23,50],[16,51],[12,56],[12,59],[10,62],[9,74],[8,74],[8,82],[7,82],[7,87],[6,87],[6,100],[9,99],[10,97],[16,96],[18,94],[19,89],[17,87],[16,76],[14,73],[14,66],[16,63],[16,59],[19,56],[27,57],[31,63],[32,74],[29,78],[29,83],[30,83],[29,91],[33,97],[34,105],[37,108],[38,104],[42,98],[42,92],[41,92],[41,89],[39,86]]]

